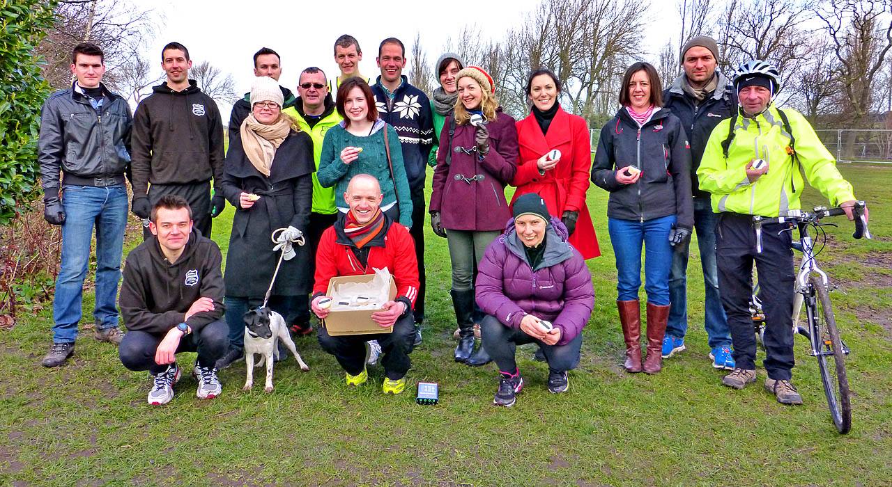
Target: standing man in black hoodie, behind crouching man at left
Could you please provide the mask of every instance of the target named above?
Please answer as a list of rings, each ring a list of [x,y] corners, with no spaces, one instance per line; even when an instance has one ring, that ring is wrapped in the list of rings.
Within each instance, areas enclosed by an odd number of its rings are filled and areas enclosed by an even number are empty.
[[[167,81],[136,107],[133,120],[133,213],[143,218],[143,237],[153,204],[165,194],[189,202],[195,228],[211,236],[211,216],[226,206],[215,191],[223,176],[223,124],[217,103],[188,78],[192,61],[186,46],[169,43],[161,50],[161,68]],[[149,187],[152,183],[152,187]]]

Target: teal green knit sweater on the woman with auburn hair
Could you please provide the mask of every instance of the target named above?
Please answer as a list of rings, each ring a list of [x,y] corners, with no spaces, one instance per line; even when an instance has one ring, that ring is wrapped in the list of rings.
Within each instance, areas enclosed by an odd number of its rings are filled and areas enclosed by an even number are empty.
[[[384,127],[387,130],[387,139],[390,142],[390,153],[393,164],[393,183],[391,171],[387,164],[387,154],[384,151]],[[361,147],[359,158],[344,164],[341,160],[341,150],[344,147]],[[347,132],[343,125],[333,126],[326,132],[326,138],[322,142],[322,154],[319,157],[319,169],[316,173],[319,184],[329,188],[335,186],[335,203],[337,207],[347,209],[347,202],[343,199],[343,193],[347,191],[347,184],[354,175],[373,175],[381,183],[381,192],[384,193],[382,207],[399,200],[400,223],[407,228],[412,226],[412,197],[409,194],[409,179],[406,177],[406,166],[402,162],[402,149],[400,137],[396,130],[383,121],[378,120],[372,129],[372,134],[359,137]],[[398,198],[399,197],[399,198]]]

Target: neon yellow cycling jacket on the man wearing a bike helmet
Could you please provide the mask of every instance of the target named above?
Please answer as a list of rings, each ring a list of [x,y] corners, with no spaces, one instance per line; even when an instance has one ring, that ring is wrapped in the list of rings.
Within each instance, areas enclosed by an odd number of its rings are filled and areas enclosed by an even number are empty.
[[[722,142],[728,137],[731,118],[725,119],[709,135],[697,169],[700,189],[712,193],[713,211],[778,216],[799,208],[803,172],[808,183],[821,191],[831,205],[855,199],[852,185],[839,174],[836,160],[808,121],[797,110],[783,112],[796,136],[801,169],[789,153],[790,136],[773,105],[756,118],[737,117],[727,159]],[[746,168],[754,158],[765,159],[768,172],[756,183],[749,183]]]

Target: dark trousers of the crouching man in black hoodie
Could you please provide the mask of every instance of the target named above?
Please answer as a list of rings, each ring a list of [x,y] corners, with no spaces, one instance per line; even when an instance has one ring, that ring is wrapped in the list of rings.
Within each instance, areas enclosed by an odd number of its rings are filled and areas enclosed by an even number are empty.
[[[181,339],[177,353],[198,352],[198,364],[202,367],[213,367],[229,347],[228,331],[226,321],[211,321],[197,333]],[[165,335],[166,333],[128,331],[118,346],[121,363],[134,371],[148,370],[153,374],[163,372],[168,366],[155,363],[155,351],[158,350],[158,345],[161,345]]]

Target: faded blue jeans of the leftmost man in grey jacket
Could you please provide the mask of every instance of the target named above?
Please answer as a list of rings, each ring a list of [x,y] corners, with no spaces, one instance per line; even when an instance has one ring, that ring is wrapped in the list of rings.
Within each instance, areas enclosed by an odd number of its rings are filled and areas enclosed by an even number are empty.
[[[96,302],[93,317],[97,329],[118,326],[120,259],[127,228],[127,189],[123,186],[62,186],[62,264],[53,299],[53,341],[73,343],[82,316],[81,295],[90,239],[96,228]]]

